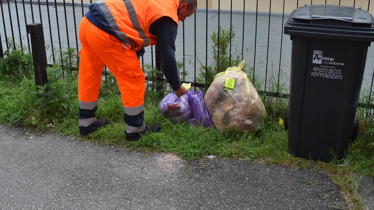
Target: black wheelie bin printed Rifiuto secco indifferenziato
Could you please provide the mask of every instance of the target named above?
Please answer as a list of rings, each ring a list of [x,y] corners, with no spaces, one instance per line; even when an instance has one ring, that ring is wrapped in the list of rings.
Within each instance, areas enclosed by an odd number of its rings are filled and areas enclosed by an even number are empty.
[[[284,33],[292,40],[288,149],[296,157],[341,160],[358,132],[374,18],[361,8],[305,5],[290,14]]]

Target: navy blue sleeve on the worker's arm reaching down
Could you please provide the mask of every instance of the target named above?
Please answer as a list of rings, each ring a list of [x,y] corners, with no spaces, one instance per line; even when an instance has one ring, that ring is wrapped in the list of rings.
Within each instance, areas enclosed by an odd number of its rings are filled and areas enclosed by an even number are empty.
[[[161,69],[173,90],[181,87],[178,74],[177,61],[175,60],[175,40],[178,34],[177,23],[169,17],[161,17],[153,22],[149,32],[157,36],[157,53]]]

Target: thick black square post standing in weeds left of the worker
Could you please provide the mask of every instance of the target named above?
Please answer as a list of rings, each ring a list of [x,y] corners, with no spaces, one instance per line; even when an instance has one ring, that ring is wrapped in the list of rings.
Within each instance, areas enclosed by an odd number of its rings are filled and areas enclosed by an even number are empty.
[[[31,37],[35,84],[37,86],[43,86],[47,83],[47,55],[44,43],[43,25],[41,23],[27,24],[26,31]],[[39,88],[36,87],[36,90],[39,90]]]

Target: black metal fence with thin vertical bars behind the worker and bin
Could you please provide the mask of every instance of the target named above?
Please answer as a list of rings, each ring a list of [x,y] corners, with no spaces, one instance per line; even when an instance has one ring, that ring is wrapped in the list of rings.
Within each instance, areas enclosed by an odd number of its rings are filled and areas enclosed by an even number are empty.
[[[22,48],[31,50],[25,27],[31,23],[42,23],[46,45],[50,49],[47,50],[48,62],[59,63],[56,55],[62,56],[62,50],[67,47],[80,49],[79,22],[90,3],[92,0],[5,0],[0,4],[3,28],[0,30],[3,43],[0,45],[0,56],[9,47],[7,38],[13,45],[19,42]],[[283,26],[289,16],[285,11],[292,11],[306,3],[344,4],[362,7],[369,12],[374,9],[370,0],[200,0],[195,14],[178,28],[176,58],[183,64],[181,70],[188,73],[183,75],[183,80],[201,87],[208,81],[206,70],[209,67],[218,72],[220,68],[232,65],[234,60],[246,60],[245,71],[249,78],[252,82],[261,81],[258,83],[259,92],[288,97],[291,41],[288,35],[283,34]],[[237,9],[239,7],[242,9]],[[141,59],[142,65],[149,63],[160,68],[155,52],[153,46],[147,47]],[[224,63],[227,58],[229,61]],[[164,80],[162,75],[160,80]],[[370,49],[362,85],[370,96],[373,80],[374,49]]]

